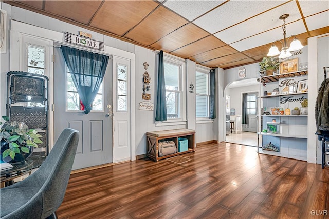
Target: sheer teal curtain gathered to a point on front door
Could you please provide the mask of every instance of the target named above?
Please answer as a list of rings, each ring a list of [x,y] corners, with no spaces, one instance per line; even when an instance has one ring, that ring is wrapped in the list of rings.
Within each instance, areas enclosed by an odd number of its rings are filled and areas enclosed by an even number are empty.
[[[84,105],[84,113],[88,114],[103,81],[108,56],[67,46],[61,46],[61,50]]]

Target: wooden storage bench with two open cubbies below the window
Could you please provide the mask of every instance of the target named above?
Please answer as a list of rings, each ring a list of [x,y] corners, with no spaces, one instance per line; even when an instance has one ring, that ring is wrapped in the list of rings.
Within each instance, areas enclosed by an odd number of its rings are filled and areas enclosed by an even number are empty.
[[[173,129],[166,131],[147,132],[146,137],[148,148],[147,156],[156,162],[168,157],[195,151],[195,130],[192,129]],[[159,140],[173,141],[175,142],[176,147],[178,147],[179,137],[186,138],[189,141],[188,150],[159,157]]]

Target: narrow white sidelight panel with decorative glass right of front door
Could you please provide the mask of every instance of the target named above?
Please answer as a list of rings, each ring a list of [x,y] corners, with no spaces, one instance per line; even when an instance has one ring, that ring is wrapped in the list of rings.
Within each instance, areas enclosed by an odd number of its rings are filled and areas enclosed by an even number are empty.
[[[131,160],[129,59],[113,58],[113,163]]]

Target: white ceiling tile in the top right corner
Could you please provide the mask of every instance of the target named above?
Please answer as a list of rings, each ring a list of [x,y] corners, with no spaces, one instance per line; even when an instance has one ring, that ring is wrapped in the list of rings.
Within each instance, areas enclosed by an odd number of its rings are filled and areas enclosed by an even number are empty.
[[[298,1],[299,5],[302,9],[304,17],[307,17],[309,15],[313,15],[325,10],[329,9],[329,1],[327,0],[322,0],[322,1]]]

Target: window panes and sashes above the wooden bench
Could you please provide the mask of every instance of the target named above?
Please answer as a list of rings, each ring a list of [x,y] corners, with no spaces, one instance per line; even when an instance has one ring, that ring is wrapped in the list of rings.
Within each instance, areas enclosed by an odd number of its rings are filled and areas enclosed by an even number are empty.
[[[184,119],[182,115],[182,64],[173,58],[164,57],[167,119]]]

